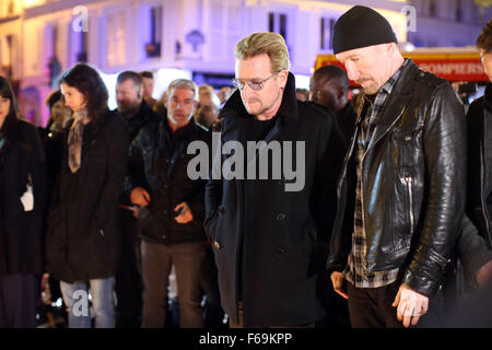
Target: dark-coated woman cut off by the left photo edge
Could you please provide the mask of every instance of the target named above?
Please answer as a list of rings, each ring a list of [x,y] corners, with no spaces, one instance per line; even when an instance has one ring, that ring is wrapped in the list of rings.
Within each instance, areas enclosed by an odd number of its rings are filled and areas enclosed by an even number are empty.
[[[46,168],[36,128],[0,77],[0,328],[36,325]]]

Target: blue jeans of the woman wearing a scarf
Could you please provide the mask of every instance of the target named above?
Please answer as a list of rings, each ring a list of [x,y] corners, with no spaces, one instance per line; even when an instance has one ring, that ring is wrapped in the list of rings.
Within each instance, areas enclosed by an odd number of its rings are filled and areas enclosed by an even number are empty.
[[[63,302],[67,305],[70,328],[91,328],[89,311],[89,289],[96,328],[115,328],[115,278],[78,281],[68,283],[60,281]]]

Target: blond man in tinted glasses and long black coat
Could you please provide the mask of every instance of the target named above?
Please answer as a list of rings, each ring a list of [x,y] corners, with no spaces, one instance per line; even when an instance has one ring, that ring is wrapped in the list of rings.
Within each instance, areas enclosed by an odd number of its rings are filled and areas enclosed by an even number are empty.
[[[238,90],[221,112],[223,155],[206,192],[222,307],[232,327],[313,326],[342,136],[326,108],[296,101],[279,34],[251,34],[235,51]]]

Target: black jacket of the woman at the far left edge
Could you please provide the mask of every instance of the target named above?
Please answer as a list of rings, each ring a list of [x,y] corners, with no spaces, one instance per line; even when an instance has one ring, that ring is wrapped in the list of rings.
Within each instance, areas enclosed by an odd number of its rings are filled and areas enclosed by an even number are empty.
[[[45,154],[33,125],[19,120],[16,127],[22,142],[0,137],[0,276],[38,275],[44,262]],[[30,174],[34,209],[24,211],[21,197]]]

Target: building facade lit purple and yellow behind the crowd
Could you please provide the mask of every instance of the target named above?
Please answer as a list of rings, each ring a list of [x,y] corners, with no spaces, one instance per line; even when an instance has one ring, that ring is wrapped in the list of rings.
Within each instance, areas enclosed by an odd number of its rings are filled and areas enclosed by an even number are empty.
[[[420,16],[426,13],[421,10],[423,2],[356,1],[385,15],[402,43],[407,34],[419,39],[424,25]],[[408,32],[405,7],[409,3],[418,11],[415,33]],[[46,122],[44,101],[57,86],[57,77],[78,61],[107,74],[110,94],[115,74],[127,69],[153,71],[155,97],[176,77],[220,88],[231,84],[236,42],[253,32],[283,35],[291,70],[305,85],[316,56],[331,51],[335,22],[353,4],[348,0],[2,0],[0,67],[19,82],[22,113],[37,125]],[[473,15],[465,12],[464,19]],[[479,27],[462,36],[471,37]],[[429,36],[422,40],[427,44]],[[115,106],[113,96],[109,103]]]

